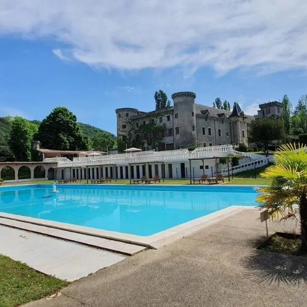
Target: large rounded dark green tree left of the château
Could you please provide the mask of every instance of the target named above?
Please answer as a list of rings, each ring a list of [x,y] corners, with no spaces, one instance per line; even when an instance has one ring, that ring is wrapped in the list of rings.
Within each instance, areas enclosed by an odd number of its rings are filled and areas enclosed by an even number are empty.
[[[76,116],[63,106],[54,108],[41,122],[37,139],[47,149],[86,150],[89,147]]]

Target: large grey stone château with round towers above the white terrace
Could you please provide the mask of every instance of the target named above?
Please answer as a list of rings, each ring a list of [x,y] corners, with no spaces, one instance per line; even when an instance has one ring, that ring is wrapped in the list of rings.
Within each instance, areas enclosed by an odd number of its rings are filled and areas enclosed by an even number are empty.
[[[169,150],[187,147],[205,147],[225,144],[247,144],[248,124],[254,119],[241,110],[238,103],[232,111],[224,111],[196,104],[196,94],[175,93],[173,106],[152,112],[141,112],[136,108],[119,108],[117,114],[117,136],[130,141],[141,140],[142,149]],[[155,121],[165,125],[161,144],[153,148],[146,143],[146,135],[140,136],[138,129],[144,123]]]

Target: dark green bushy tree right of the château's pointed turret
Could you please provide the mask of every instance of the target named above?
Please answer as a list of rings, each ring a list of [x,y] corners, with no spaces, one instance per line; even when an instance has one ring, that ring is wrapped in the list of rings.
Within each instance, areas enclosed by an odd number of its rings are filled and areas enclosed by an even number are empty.
[[[258,143],[267,148],[270,142],[282,140],[283,137],[283,124],[280,119],[256,119],[251,122],[249,142]]]

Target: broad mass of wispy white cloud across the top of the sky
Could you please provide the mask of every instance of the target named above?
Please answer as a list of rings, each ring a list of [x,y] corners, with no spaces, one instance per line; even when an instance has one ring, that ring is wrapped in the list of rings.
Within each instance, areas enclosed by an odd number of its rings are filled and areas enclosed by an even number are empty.
[[[1,0],[0,35],[54,38],[96,69],[307,68],[305,0]]]

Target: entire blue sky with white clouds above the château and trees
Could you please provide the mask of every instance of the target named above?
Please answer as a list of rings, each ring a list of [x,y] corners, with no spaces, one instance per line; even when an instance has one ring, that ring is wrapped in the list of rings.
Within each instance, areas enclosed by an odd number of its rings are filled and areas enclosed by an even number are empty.
[[[306,12],[303,0],[2,0],[0,116],[42,120],[67,106],[116,133],[115,109],[151,111],[160,89],[237,100],[250,115],[284,94],[296,104]]]

